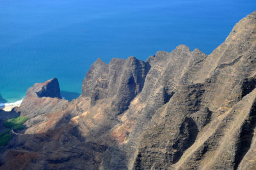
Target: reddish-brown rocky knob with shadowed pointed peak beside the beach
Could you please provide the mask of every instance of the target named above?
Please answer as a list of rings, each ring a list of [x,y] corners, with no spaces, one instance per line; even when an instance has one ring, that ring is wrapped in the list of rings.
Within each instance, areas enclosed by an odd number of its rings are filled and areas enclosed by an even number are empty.
[[[18,109],[20,116],[29,118],[25,124],[28,127],[26,132],[47,131],[56,127],[62,115],[55,115],[55,113],[63,111],[67,103],[67,100],[61,99],[57,78],[44,83],[35,83],[27,90],[26,97]],[[29,130],[29,127],[33,128]]]

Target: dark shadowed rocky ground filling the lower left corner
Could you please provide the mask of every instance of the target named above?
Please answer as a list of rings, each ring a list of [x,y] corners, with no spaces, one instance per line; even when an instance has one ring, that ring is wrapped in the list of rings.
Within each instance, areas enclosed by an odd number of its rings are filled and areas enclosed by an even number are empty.
[[[118,148],[111,147],[115,142],[111,136],[108,139],[93,138],[95,136],[92,134],[97,132],[97,129],[92,129],[89,136],[83,136],[77,125],[69,124],[70,119],[76,116],[72,110],[58,114],[60,115],[58,121],[46,132],[24,134],[26,129],[12,131],[12,139],[6,146],[7,150],[4,153],[7,155],[6,158],[11,159],[0,159],[0,169],[19,169],[19,167],[29,169],[30,163],[36,160],[44,161],[45,165],[41,167],[42,169],[74,169],[75,167],[77,169],[84,167],[99,169],[101,160],[111,160],[113,152],[120,153]],[[47,114],[45,116],[47,117]],[[51,118],[47,122],[51,122]],[[96,137],[102,137],[102,135]],[[106,140],[106,142],[102,143],[102,140]],[[109,146],[108,141],[113,141],[113,143],[109,142],[111,146]],[[52,148],[52,146],[54,147]],[[23,160],[21,155],[22,157],[26,156],[27,159]],[[115,157],[125,159],[125,154],[118,154]],[[108,164],[107,161],[105,163],[104,167],[116,167],[116,162]]]

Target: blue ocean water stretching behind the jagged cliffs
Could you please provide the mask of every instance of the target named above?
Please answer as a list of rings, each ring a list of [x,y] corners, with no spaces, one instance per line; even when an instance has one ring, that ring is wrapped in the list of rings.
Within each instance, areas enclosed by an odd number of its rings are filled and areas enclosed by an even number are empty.
[[[76,97],[98,57],[146,60],[180,44],[209,54],[255,9],[255,0],[0,0],[0,103],[52,77]]]

